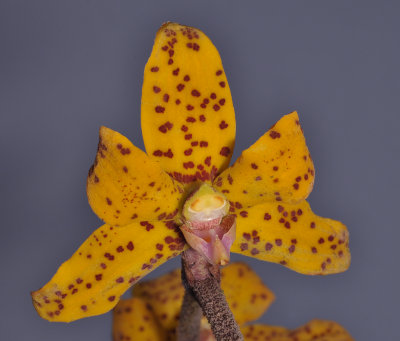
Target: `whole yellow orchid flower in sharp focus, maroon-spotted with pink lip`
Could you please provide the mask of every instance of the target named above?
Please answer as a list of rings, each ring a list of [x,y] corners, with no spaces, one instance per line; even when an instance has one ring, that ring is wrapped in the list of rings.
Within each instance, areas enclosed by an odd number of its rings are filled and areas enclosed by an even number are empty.
[[[305,201],[314,166],[296,112],[228,167],[234,108],[218,51],[203,32],[176,23],[157,32],[141,121],[146,153],[100,128],[87,195],[105,224],[32,293],[41,317],[103,314],[188,247],[217,265],[232,251],[307,275],[348,268],[346,227]]]

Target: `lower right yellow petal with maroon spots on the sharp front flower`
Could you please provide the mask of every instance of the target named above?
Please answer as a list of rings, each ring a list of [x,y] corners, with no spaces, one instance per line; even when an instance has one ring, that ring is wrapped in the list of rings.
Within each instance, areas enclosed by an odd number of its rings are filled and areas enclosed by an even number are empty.
[[[232,252],[307,275],[338,273],[350,265],[346,226],[315,215],[306,201],[268,202],[238,213]]]

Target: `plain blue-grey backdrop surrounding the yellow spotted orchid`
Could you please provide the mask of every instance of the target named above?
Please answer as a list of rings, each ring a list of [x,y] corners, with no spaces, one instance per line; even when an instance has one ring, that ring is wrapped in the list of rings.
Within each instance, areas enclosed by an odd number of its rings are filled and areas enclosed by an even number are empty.
[[[296,327],[319,317],[357,340],[398,340],[398,4],[2,0],[0,339],[111,340],[110,314],[51,324],[29,292],[100,223],[85,194],[99,126],[143,147],[143,68],[170,20],[202,29],[220,51],[237,114],[235,158],[297,109],[316,167],[311,205],[351,233],[352,265],[339,275],[234,257],[276,293],[261,321]]]

